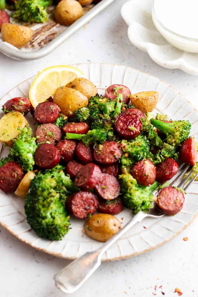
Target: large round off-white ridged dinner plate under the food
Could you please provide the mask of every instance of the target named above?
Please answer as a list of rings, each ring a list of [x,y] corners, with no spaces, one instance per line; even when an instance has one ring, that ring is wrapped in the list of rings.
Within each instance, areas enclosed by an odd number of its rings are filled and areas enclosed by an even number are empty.
[[[193,106],[175,89],[159,78],[148,75],[139,70],[100,63],[85,63],[72,65],[84,73],[104,94],[104,89],[113,83],[123,84],[133,92],[158,91],[159,102],[155,112],[168,114],[172,119],[186,119],[192,124],[191,135],[198,140],[198,114]],[[42,70],[42,69],[38,69]],[[34,77],[20,83],[9,91],[2,99],[1,104],[13,97],[28,97],[29,87]],[[1,112],[2,116],[2,112]],[[35,127],[31,115],[27,116],[31,127]],[[2,150],[2,155],[5,150]],[[198,214],[198,183],[190,187],[182,211],[172,217],[159,219],[144,219],[120,238],[103,256],[103,260],[117,260],[131,257],[155,249],[172,239],[186,228]],[[23,209],[24,200],[17,196],[0,193],[0,223],[21,241],[32,247],[53,254],[58,257],[75,259],[87,251],[92,251],[102,243],[87,237],[83,233],[84,221],[71,218],[69,233],[61,241],[49,241],[39,238],[26,222]],[[124,210],[117,215],[122,225],[132,217],[132,211]],[[144,228],[144,227],[146,228]]]

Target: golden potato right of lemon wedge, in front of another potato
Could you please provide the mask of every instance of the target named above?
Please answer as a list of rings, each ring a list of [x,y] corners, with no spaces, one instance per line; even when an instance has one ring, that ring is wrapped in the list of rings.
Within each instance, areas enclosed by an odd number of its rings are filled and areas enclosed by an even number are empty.
[[[56,89],[53,102],[56,103],[61,113],[72,118],[75,110],[88,105],[88,99],[82,93],[66,86]]]

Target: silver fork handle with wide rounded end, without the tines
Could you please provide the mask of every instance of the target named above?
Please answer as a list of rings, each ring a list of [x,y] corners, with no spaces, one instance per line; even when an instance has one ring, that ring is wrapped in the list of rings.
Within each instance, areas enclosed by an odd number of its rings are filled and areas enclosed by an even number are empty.
[[[128,231],[137,222],[141,222],[146,216],[147,214],[142,211],[138,212],[138,214],[136,214],[101,248],[95,250],[94,252],[87,252],[59,271],[54,277],[56,287],[65,293],[75,292],[100,266],[103,253],[126,231]]]

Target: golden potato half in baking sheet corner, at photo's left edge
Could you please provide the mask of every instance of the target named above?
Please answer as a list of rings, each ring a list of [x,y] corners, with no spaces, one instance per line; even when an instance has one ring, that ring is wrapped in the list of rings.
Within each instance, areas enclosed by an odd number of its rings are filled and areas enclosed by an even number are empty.
[[[32,38],[33,30],[25,27],[10,23],[4,23],[1,26],[1,34],[3,40],[14,45],[16,48],[22,48]]]

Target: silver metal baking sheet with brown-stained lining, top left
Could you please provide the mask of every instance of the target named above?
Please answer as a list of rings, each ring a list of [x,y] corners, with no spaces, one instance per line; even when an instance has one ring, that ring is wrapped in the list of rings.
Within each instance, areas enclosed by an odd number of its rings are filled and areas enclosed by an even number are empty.
[[[90,4],[83,7],[84,15],[69,27],[61,26],[53,20],[53,6],[49,7],[49,10],[51,10],[49,11],[49,19],[44,24],[18,23],[12,19],[12,23],[28,26],[33,29],[34,35],[25,47],[18,50],[9,43],[3,42],[0,34],[0,52],[12,59],[20,61],[29,61],[45,57],[78,29],[85,26],[92,18],[104,10],[113,1],[115,0],[102,0],[96,5]]]

